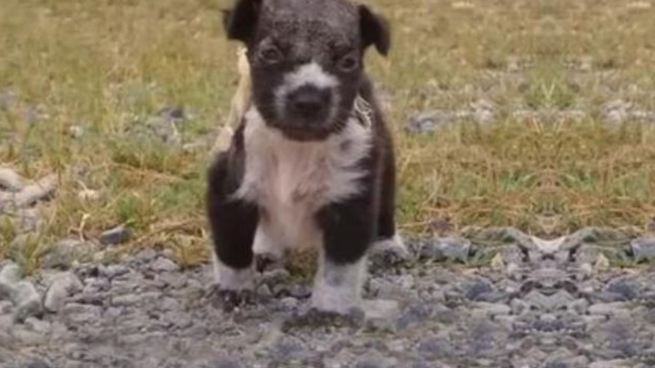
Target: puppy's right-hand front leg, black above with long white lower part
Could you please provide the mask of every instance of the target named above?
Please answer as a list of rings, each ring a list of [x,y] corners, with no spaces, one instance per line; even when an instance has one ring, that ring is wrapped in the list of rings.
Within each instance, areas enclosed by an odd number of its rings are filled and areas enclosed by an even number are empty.
[[[312,292],[312,307],[348,314],[361,307],[365,253],[375,234],[372,190],[358,198],[331,204],[318,214],[323,247]]]

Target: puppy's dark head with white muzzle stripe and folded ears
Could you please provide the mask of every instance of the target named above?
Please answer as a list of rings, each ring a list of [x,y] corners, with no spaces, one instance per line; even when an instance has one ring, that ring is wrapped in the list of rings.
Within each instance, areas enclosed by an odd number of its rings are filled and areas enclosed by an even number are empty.
[[[345,124],[365,50],[386,55],[383,18],[348,0],[238,0],[225,12],[229,39],[248,47],[253,102],[291,139],[324,139]]]

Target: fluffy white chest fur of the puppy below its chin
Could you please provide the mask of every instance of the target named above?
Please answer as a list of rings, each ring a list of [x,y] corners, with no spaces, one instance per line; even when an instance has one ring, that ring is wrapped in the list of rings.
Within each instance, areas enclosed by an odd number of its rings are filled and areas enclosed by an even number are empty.
[[[246,113],[246,168],[238,198],[264,211],[255,236],[255,252],[305,246],[319,232],[314,215],[331,202],[345,200],[362,188],[360,161],[371,147],[371,132],[357,120],[324,141],[293,141],[270,128],[259,111]],[[259,250],[259,251],[257,251]]]

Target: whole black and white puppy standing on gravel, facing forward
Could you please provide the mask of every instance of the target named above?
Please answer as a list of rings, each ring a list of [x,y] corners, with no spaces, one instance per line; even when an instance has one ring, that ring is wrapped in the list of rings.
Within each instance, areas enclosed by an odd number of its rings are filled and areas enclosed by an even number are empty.
[[[320,247],[312,307],[357,308],[365,253],[398,242],[390,133],[364,74],[388,52],[383,18],[347,0],[240,0],[225,13],[247,48],[252,103],[209,172],[219,295],[253,288],[255,257]]]

